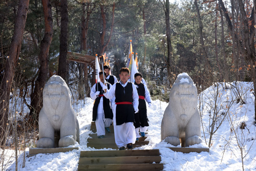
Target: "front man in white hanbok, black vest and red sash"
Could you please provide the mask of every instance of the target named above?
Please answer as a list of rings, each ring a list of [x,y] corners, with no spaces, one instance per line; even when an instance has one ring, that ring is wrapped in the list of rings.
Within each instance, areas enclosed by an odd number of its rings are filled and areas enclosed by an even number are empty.
[[[136,141],[136,132],[134,127],[134,114],[139,112],[139,96],[134,83],[127,81],[130,70],[121,68],[120,82],[115,83],[110,90],[104,93],[106,98],[115,97],[113,108],[113,124],[115,131],[115,142],[119,150],[132,149]],[[103,85],[103,89],[106,86]]]

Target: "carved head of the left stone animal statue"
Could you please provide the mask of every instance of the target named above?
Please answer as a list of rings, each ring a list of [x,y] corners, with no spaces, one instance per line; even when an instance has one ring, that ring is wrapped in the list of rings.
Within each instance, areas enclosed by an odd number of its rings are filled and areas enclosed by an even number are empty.
[[[60,101],[70,100],[70,92],[66,82],[60,76],[52,76],[46,83],[43,91],[44,103],[49,103],[53,109],[57,109]]]

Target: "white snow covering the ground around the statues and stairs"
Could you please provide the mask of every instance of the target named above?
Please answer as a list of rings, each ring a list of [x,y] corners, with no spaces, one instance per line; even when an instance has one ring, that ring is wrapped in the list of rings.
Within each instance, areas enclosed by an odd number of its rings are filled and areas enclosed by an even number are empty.
[[[215,83],[198,95],[198,108],[202,116],[203,143],[190,147],[208,147],[210,132],[216,131],[212,135],[209,153],[173,152],[168,148],[172,145],[161,141],[161,121],[168,103],[160,100],[152,101],[151,108],[147,108],[150,126],[146,140],[150,143],[135,149],[159,149],[164,170],[243,170],[240,151],[242,149],[244,169],[256,170],[252,89],[251,82]],[[242,100],[238,100],[238,98]],[[87,146],[87,139],[92,133],[90,125],[93,100],[86,98],[84,101],[76,101],[73,108],[77,112],[80,124],[80,144],[73,145],[73,147],[78,147],[78,150],[26,157],[24,168],[22,168],[24,153],[20,151],[18,152],[18,170],[77,170],[80,151],[112,150],[110,148],[94,149]],[[242,122],[246,124],[244,130],[240,129]],[[28,151],[29,148],[26,148],[26,156]],[[5,149],[5,155],[5,168],[15,170],[14,151]]]

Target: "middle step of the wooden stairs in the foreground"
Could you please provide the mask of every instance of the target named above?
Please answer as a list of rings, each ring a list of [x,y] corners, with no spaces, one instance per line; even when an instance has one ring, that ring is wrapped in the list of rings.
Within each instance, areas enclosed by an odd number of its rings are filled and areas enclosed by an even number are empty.
[[[160,163],[160,156],[125,156],[125,157],[91,157],[80,158],[79,165],[86,164],[136,164],[136,163]]]

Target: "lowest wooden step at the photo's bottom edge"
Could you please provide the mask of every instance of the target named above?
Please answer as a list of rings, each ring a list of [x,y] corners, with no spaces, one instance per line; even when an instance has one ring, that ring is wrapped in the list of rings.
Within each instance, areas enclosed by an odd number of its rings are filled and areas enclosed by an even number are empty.
[[[87,164],[78,165],[78,171],[92,171],[92,170],[104,170],[104,171],[155,171],[163,170],[163,164],[150,164],[150,163],[139,163],[139,164]]]

